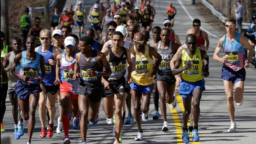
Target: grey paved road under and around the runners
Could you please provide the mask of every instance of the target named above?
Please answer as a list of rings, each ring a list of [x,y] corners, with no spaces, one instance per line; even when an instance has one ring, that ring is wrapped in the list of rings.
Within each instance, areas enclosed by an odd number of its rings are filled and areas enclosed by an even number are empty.
[[[93,0],[83,0],[83,3],[88,14],[89,8],[93,5]],[[238,130],[234,133],[229,133],[227,130],[230,126],[229,113],[227,111],[226,95],[223,88],[223,82],[221,79],[221,68],[222,63],[217,63],[212,59],[214,49],[216,48],[218,39],[216,37],[222,37],[224,33],[213,29],[211,25],[205,22],[204,18],[196,11],[195,6],[191,5],[190,0],[176,0],[172,1],[173,5],[178,10],[175,16],[175,22],[173,29],[175,33],[180,36],[180,41],[182,44],[185,43],[186,30],[192,28],[192,20],[198,18],[201,20],[202,27],[209,31],[210,48],[207,51],[210,57],[210,76],[205,78],[206,90],[203,92],[201,100],[201,115],[199,119],[199,136],[200,142],[205,144],[213,143],[255,143],[255,103],[256,103],[256,89],[255,89],[255,71],[251,65],[250,68],[246,70],[247,77],[245,82],[245,92],[244,92],[244,104],[241,107],[235,105],[235,118]],[[68,5],[76,4],[76,0],[67,0],[65,7]],[[166,7],[169,1],[167,0],[157,0],[155,2],[156,16],[153,26],[162,27],[162,21],[167,17],[165,13]],[[181,6],[183,4],[183,8]],[[190,17],[186,11],[191,15]],[[90,27],[86,24],[85,29]],[[224,26],[223,26],[224,29]],[[73,28],[73,33],[77,33],[76,27]],[[151,36],[152,37],[152,36]],[[124,125],[122,130],[122,138],[124,144],[131,143],[183,143],[181,140],[181,123],[182,123],[182,110],[184,110],[181,104],[181,97],[178,96],[179,106],[175,110],[167,110],[167,119],[170,131],[163,133],[162,125],[163,120],[152,120],[154,114],[154,102],[151,98],[150,104],[150,118],[148,122],[142,122],[143,128],[143,141],[134,141],[137,135],[137,125],[132,123],[130,125]],[[16,140],[13,136],[13,121],[11,116],[11,106],[9,99],[6,100],[7,108],[3,119],[4,127],[6,132],[1,133],[1,139],[3,137],[9,136],[13,144],[26,143],[27,141],[27,122],[24,122],[25,134],[19,140]],[[56,107],[58,103],[56,103]],[[100,109],[100,121],[96,126],[92,126],[88,130],[87,142],[88,143],[113,143],[114,137],[112,136],[112,125],[106,124],[106,116],[102,109]],[[160,109],[159,109],[160,111]],[[133,113],[133,110],[132,110]],[[59,114],[56,113],[55,118],[58,118]],[[59,144],[63,143],[64,133],[55,133],[52,138],[39,139],[40,135],[40,120],[38,116],[38,111],[36,112],[36,125],[34,129],[34,134],[32,138],[32,143],[37,144]],[[70,122],[70,129],[71,129]],[[56,126],[55,126],[56,129]],[[192,138],[192,135],[190,136]],[[70,138],[72,143],[81,143],[80,130],[70,130]],[[198,142],[198,143],[200,143]],[[190,142],[191,143],[191,142]]]

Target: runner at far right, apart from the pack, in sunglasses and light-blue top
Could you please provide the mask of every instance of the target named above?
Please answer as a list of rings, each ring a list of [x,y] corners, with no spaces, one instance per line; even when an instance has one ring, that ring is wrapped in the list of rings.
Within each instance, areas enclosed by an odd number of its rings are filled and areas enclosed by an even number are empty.
[[[243,35],[235,32],[236,21],[232,17],[225,20],[227,34],[218,42],[213,59],[222,62],[221,78],[223,79],[225,93],[228,100],[228,111],[231,120],[229,132],[237,130],[235,123],[234,99],[237,106],[243,104],[245,68],[249,68],[249,62],[253,56],[253,47]],[[218,55],[223,49],[224,56]],[[246,49],[249,50],[246,60]],[[233,85],[235,85],[235,96],[233,95]]]

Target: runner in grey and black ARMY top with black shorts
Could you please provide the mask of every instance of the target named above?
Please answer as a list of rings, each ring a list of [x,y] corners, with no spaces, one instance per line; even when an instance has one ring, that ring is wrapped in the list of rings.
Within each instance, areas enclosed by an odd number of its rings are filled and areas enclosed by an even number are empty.
[[[168,122],[166,118],[166,103],[171,104],[171,107],[175,108],[177,106],[177,99],[176,94],[174,94],[175,90],[175,82],[176,79],[172,74],[172,70],[170,67],[170,60],[172,56],[176,53],[177,49],[179,48],[178,43],[174,43],[173,41],[169,40],[171,31],[168,28],[163,28],[161,30],[161,40],[158,43],[155,43],[154,48],[157,49],[157,52],[162,56],[161,64],[157,70],[157,91],[160,94],[160,108],[163,115],[163,127],[162,131],[166,132],[169,131]],[[155,58],[154,58],[155,61]],[[155,98],[154,98],[155,100]],[[157,106],[158,106],[158,99],[157,99]],[[153,116],[154,119],[154,116]]]

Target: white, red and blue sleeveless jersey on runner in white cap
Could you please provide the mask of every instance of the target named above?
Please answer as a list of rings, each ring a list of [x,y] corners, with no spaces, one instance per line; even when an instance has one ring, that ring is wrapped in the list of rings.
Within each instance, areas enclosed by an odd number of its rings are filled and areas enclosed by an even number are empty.
[[[74,51],[74,59],[71,61],[67,61],[65,57],[65,52],[63,52],[61,54],[61,60],[60,60],[60,72],[61,72],[60,82],[63,84],[62,86],[72,91],[72,94],[77,94],[77,88],[79,85],[79,80],[73,80],[72,77],[70,77],[69,75],[69,72],[74,72],[77,53],[78,53],[77,51]]]

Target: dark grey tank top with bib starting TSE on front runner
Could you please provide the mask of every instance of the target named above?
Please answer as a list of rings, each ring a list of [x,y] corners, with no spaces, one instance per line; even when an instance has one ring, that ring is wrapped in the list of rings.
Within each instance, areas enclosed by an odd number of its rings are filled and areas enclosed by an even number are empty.
[[[98,65],[97,50],[93,50],[92,55],[88,61],[85,60],[84,55],[80,54],[79,67],[80,67],[80,84],[85,84],[89,86],[99,86],[101,85],[100,77],[90,77],[86,72],[88,69],[94,72],[102,72],[103,68]]]

